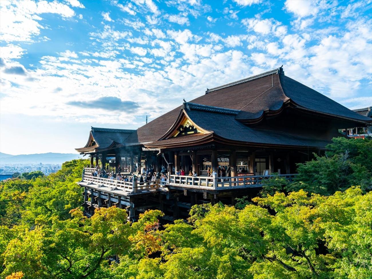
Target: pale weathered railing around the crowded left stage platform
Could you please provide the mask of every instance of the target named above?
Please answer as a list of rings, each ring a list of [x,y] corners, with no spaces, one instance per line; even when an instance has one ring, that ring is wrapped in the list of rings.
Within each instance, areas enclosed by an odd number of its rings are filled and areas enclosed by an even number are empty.
[[[109,190],[121,190],[125,195],[144,192],[150,189],[157,189],[160,185],[157,181],[140,182],[139,180],[140,179],[137,178],[133,180],[133,182],[126,182],[92,176],[91,174],[84,174],[82,182],[86,182],[88,185],[94,185],[96,187],[108,187]]]

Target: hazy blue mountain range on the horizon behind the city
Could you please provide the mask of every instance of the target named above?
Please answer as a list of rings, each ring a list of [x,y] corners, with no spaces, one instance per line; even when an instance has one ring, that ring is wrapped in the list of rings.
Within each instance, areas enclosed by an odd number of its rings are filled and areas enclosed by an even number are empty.
[[[73,153],[42,153],[42,154],[25,154],[25,155],[9,155],[0,154],[0,164],[20,164],[20,163],[43,163],[43,164],[61,164],[65,161],[82,158],[79,154]]]

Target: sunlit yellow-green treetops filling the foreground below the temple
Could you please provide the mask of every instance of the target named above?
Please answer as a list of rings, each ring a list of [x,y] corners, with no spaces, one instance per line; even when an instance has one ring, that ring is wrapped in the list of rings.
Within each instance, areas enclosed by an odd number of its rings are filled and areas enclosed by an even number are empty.
[[[134,223],[116,207],[84,217],[84,163],[1,183],[1,278],[372,278],[372,193],[360,187],[195,205],[163,227],[157,210]]]

